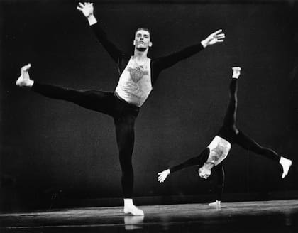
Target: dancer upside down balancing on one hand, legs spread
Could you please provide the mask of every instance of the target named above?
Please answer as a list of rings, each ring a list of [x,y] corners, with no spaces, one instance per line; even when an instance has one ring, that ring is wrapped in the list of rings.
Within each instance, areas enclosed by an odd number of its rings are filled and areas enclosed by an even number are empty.
[[[226,156],[228,156],[228,152],[231,150],[231,145],[233,143],[238,144],[239,146],[249,151],[253,151],[257,154],[270,158],[272,161],[279,162],[282,166],[283,171],[282,178],[285,178],[285,176],[289,172],[290,166],[292,165],[291,160],[279,156],[270,148],[260,146],[258,143],[253,141],[253,139],[250,139],[236,127],[238,89],[237,81],[240,75],[241,68],[233,67],[232,69],[233,76],[230,84],[230,99],[228,102],[228,109],[226,110],[226,115],[223,119],[223,126],[221,126],[221,129],[219,129],[218,134],[199,156],[190,158],[180,165],[173,166],[172,168],[158,173],[158,181],[162,183],[167,178],[167,175],[170,175],[170,173],[174,173],[177,170],[181,170],[182,168],[187,168],[192,165],[199,166],[199,176],[204,179],[208,178],[209,175],[211,175],[211,169],[214,168],[217,175],[216,201],[210,203],[209,205],[214,205],[216,207],[220,207],[221,195],[223,193],[223,160],[226,158]]]

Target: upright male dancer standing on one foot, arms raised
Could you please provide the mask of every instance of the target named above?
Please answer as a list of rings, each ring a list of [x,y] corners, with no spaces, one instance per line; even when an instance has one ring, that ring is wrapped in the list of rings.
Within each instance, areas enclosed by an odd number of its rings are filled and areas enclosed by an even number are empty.
[[[28,75],[31,65],[21,69],[21,76],[16,85],[30,87],[34,92],[53,99],[63,99],[80,106],[112,116],[116,127],[116,140],[122,170],[121,184],[124,197],[124,212],[132,215],[143,215],[143,211],[133,205],[133,166],[131,158],[134,143],[134,124],[140,107],[148,98],[152,86],[162,70],[184,58],[198,53],[208,45],[223,42],[225,35],[221,30],[209,35],[201,43],[162,58],[151,60],[147,53],[152,46],[148,29],[139,28],[135,34],[134,54],[126,55],[107,38],[94,16],[92,3],[79,3],[77,7],[87,18],[99,42],[106,48],[111,58],[117,63],[119,82],[114,92],[99,90],[71,90],[53,85],[34,82]]]

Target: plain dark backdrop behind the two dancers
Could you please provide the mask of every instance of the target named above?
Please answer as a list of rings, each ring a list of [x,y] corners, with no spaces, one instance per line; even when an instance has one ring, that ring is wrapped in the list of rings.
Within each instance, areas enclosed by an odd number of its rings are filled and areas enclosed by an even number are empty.
[[[0,3],[1,210],[121,197],[113,120],[14,85],[21,66],[31,63],[31,77],[39,82],[114,90],[116,65],[77,11],[77,1]],[[296,1],[94,1],[109,38],[131,54],[140,26],[151,30],[151,58],[199,43],[219,28],[226,33],[223,44],[162,72],[143,105],[133,152],[137,197],[212,200],[215,176],[202,180],[189,168],[160,184],[156,173],[197,156],[216,135],[234,65],[243,68],[238,127],[297,163],[297,6]],[[282,180],[278,163],[238,146],[225,168],[226,200],[231,193],[268,199],[270,193],[287,198],[298,191],[296,166]],[[146,204],[143,200],[138,204]]]

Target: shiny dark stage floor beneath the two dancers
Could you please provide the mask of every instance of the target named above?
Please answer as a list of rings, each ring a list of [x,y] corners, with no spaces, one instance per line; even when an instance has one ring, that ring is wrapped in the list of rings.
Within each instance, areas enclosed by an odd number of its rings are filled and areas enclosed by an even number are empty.
[[[0,232],[298,232],[298,200],[140,207],[144,217],[122,207],[2,213]]]

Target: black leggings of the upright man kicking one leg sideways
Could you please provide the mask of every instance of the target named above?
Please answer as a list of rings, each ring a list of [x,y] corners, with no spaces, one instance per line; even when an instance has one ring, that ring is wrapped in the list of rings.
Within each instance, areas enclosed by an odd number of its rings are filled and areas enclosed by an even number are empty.
[[[114,118],[122,170],[123,197],[133,197],[133,166],[131,158],[135,141],[134,125],[140,108],[133,104],[128,104],[114,92],[72,90],[53,85],[43,85],[37,82],[34,82],[31,90],[43,94],[45,97],[73,102],[86,109],[101,112]]]

